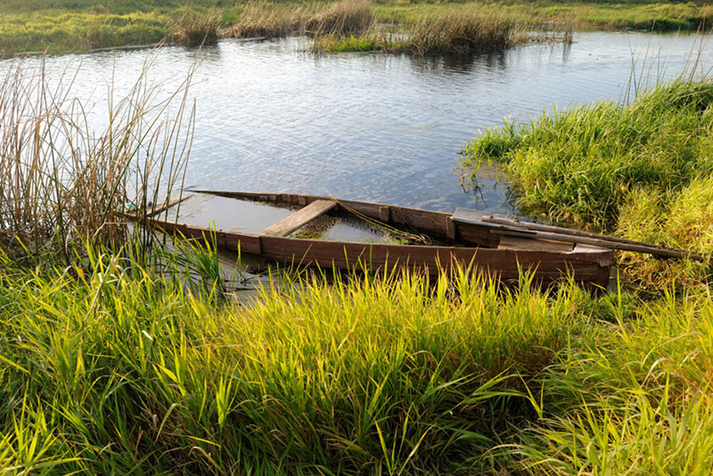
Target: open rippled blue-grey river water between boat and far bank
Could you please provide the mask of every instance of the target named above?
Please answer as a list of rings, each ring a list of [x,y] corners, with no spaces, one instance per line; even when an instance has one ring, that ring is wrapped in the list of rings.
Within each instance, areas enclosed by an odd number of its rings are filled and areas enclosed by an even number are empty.
[[[223,40],[202,52],[165,47],[46,59],[48,75],[79,74],[73,93],[106,123],[106,97],[126,93],[152,54],[168,91],[197,57],[197,115],[187,185],[325,194],[453,211],[512,212],[493,171],[463,188],[458,151],[503,117],[626,97],[637,81],[678,74],[711,46],[693,36],[580,32],[575,43],[531,44],[473,61],[304,52],[306,40]],[[658,57],[652,61],[650,57]],[[647,59],[648,58],[648,59]],[[26,60],[39,61],[37,59]],[[0,62],[0,69],[9,65]],[[68,76],[64,76],[68,80]]]

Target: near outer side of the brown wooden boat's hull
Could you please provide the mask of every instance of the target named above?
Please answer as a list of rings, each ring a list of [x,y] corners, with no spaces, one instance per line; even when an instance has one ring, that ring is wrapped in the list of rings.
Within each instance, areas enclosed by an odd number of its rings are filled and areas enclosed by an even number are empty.
[[[397,267],[438,274],[460,266],[504,282],[517,281],[522,270],[529,270],[534,273],[534,280],[545,286],[571,276],[586,286],[606,287],[612,262],[611,250],[608,249],[586,248],[578,251],[575,248],[574,251],[561,253],[481,246],[351,243],[209,230],[176,222],[155,223],[168,233],[204,241],[215,240],[216,246],[242,254],[255,254],[287,265],[338,270],[390,270]]]

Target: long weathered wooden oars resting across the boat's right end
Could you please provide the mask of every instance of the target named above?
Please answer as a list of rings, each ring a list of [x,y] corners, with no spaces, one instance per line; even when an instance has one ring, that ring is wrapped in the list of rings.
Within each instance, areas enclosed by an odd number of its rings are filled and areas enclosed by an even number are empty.
[[[686,250],[669,249],[663,246],[652,245],[651,243],[644,243],[643,241],[635,241],[633,239],[608,237],[606,235],[598,235],[596,233],[588,233],[586,231],[542,225],[539,223],[520,222],[520,220],[496,217],[493,215],[485,215],[481,217],[480,220],[482,222],[496,223],[528,230],[529,232],[525,232],[523,237],[551,239],[553,241],[564,241],[567,243],[581,243],[582,245],[601,246],[603,248],[611,248],[622,251],[654,254],[665,258],[689,258],[699,262],[709,262],[709,260],[702,254]],[[513,232],[509,230],[496,229],[491,230],[490,232],[503,235],[513,234]]]

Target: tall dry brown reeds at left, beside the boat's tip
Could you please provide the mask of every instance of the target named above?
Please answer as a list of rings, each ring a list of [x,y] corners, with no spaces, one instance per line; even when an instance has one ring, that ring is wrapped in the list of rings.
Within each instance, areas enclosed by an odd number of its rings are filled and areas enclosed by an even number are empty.
[[[127,206],[142,211],[181,188],[193,134],[190,73],[172,95],[155,101],[145,72],[124,99],[110,93],[103,131],[94,131],[82,104],[71,99],[71,77],[51,85],[44,66],[18,62],[0,79],[6,250],[69,263],[85,243],[119,249],[127,245]]]

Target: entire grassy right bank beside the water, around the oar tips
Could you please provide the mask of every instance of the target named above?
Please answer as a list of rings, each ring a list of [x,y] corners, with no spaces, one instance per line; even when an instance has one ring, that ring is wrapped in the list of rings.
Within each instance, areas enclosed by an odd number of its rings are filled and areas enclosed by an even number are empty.
[[[678,80],[630,104],[565,109],[481,133],[464,149],[504,164],[518,204],[554,222],[713,254],[713,84]],[[647,284],[693,286],[709,266],[624,256]]]

